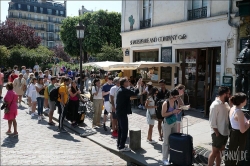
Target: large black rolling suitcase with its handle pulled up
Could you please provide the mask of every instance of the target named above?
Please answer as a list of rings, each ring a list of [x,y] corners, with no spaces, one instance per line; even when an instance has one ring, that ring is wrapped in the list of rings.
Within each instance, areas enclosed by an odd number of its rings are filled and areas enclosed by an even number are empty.
[[[187,118],[185,118],[187,119]],[[170,163],[178,166],[189,166],[193,164],[193,137],[187,134],[173,133],[169,136]]]

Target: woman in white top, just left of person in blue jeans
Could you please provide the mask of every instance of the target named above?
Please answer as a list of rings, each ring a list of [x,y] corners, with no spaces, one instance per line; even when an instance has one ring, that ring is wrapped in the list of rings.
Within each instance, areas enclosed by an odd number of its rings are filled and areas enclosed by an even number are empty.
[[[37,79],[36,77],[31,78],[30,84],[28,87],[28,98],[29,98],[29,106],[31,111],[31,117],[37,115],[36,111],[36,85]]]

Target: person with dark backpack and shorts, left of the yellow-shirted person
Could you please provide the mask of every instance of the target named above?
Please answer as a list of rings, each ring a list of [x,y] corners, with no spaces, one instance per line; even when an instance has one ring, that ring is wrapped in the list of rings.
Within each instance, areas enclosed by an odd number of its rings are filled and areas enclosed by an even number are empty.
[[[52,125],[54,126],[55,123],[52,121],[52,118],[53,118],[53,114],[54,114],[54,111],[56,110],[56,101],[54,101],[55,99],[57,100],[57,97],[54,97],[53,99],[53,96],[52,95],[57,95],[58,96],[58,92],[57,94],[53,93],[52,91],[58,91],[57,87],[55,87],[55,83],[56,83],[56,77],[51,77],[51,83],[49,84],[48,86],[48,92],[49,92],[49,122],[48,124],[49,125]],[[59,87],[58,87],[59,88]],[[51,98],[50,98],[51,96]],[[53,101],[52,101],[53,100]]]

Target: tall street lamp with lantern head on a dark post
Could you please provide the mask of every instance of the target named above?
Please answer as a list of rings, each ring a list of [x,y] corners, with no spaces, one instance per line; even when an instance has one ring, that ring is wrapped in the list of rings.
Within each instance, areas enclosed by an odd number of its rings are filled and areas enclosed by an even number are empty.
[[[85,26],[82,21],[76,26],[76,36],[80,42],[80,91],[83,93],[83,82],[82,82],[82,39],[84,38]]]

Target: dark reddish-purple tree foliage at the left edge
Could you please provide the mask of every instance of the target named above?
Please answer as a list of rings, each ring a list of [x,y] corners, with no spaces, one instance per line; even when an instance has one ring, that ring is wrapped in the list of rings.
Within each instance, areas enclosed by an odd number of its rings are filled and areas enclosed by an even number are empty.
[[[13,21],[5,21],[0,26],[0,45],[12,48],[23,45],[27,48],[37,48],[41,38],[35,36],[35,30],[27,25],[16,25]]]

